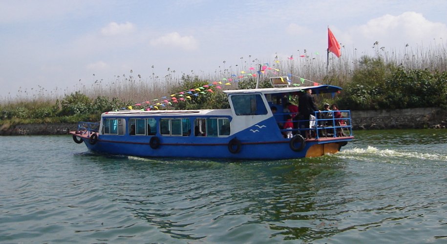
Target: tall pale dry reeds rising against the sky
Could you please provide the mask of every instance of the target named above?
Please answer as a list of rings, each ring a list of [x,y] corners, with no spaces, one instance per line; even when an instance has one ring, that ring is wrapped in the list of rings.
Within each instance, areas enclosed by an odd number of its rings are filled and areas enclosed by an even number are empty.
[[[406,45],[403,50],[388,50],[380,47],[379,42],[374,43],[371,47],[374,50],[372,55],[375,58],[382,58],[385,63],[391,63],[401,66],[405,69],[428,69],[431,72],[447,71],[447,45],[442,43],[430,44],[427,47],[417,45],[411,47]],[[304,50],[304,55],[295,57],[280,57],[272,59],[258,59],[252,56],[242,56],[240,62],[229,65],[226,61],[214,71],[196,73],[191,71],[190,74],[176,73],[168,68],[164,74],[152,73],[149,77],[136,75],[132,70],[129,74],[114,75],[113,78],[105,81],[97,79],[93,75],[92,81],[79,81],[71,88],[61,89],[55,87],[48,90],[38,85],[37,88],[20,88],[14,96],[0,97],[0,104],[3,106],[14,105],[19,103],[47,104],[61,100],[65,95],[79,91],[90,98],[98,96],[106,96],[108,98],[116,97],[125,101],[146,101],[148,99],[158,98],[169,95],[172,88],[178,87],[183,83],[182,76],[190,75],[198,77],[200,80],[222,81],[224,78],[232,78],[234,75],[240,75],[241,72],[256,74],[258,64],[268,63],[270,67],[279,71],[276,73],[268,72],[262,75],[262,79],[270,76],[289,75],[292,74],[292,81],[300,83],[299,77],[318,83],[332,84],[343,87],[349,83],[352,78],[353,71],[359,68],[359,60],[365,56],[363,52],[356,49],[351,51],[342,47],[342,56],[340,58],[329,54],[329,69],[326,70],[326,54],[309,53]],[[254,69],[250,69],[253,67]],[[237,83],[234,82],[233,83]],[[304,85],[310,85],[309,83]],[[228,86],[230,87],[230,86]],[[236,86],[232,85],[231,89]]]

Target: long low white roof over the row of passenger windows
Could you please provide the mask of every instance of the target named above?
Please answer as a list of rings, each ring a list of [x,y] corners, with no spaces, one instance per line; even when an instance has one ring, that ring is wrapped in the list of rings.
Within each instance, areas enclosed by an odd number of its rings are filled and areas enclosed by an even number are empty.
[[[120,110],[103,113],[103,116],[225,116],[231,115],[231,109],[203,110]]]

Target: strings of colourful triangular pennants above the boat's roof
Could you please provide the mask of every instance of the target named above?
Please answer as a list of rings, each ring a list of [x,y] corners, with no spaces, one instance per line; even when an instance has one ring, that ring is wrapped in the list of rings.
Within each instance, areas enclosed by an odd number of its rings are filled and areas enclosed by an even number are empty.
[[[279,60],[275,60],[275,63],[279,63]],[[210,84],[203,85],[201,87],[189,89],[187,91],[183,91],[183,92],[179,92],[179,93],[175,93],[175,94],[170,94],[169,96],[168,95],[162,96],[162,97],[155,98],[152,100],[136,103],[136,104],[133,104],[133,105],[130,105],[127,107],[113,110],[113,112],[117,112],[119,110],[135,110],[135,108],[137,108],[137,107],[138,107],[137,110],[140,110],[140,111],[150,111],[150,110],[154,110],[154,109],[160,110],[163,107],[172,106],[174,103],[186,102],[188,100],[192,100],[192,97],[194,97],[194,96],[199,96],[201,94],[207,94],[207,93],[213,93],[213,90],[222,89],[222,86],[230,86],[230,85],[232,85],[232,82],[239,82],[240,80],[243,80],[246,78],[257,77],[258,75],[266,74],[267,72],[270,72],[274,75],[278,75],[278,73],[280,72],[279,69],[270,67],[268,63],[262,64],[260,69],[256,73],[253,73],[253,71],[255,71],[255,68],[250,67],[248,72],[240,71],[239,72],[240,75],[232,74],[230,77],[222,78],[222,80],[220,80],[220,81],[213,81]],[[280,79],[283,83],[288,82],[289,85],[300,86],[301,84],[304,84],[305,81],[312,82],[312,84],[314,86],[320,85],[317,82],[299,77],[297,75],[288,74],[287,76],[289,77],[289,80],[285,80],[282,76],[280,76]],[[292,83],[290,81],[291,77],[298,78],[300,80],[301,84]],[[143,107],[143,108],[141,108],[141,107]]]

